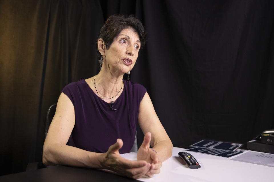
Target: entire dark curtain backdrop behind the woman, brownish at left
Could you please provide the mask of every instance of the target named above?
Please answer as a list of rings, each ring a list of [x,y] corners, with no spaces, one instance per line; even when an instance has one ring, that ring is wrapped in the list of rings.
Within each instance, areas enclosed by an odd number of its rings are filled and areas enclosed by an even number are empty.
[[[147,30],[130,79],[174,146],[274,128],[274,1],[0,0],[0,175],[41,161],[48,107],[98,73],[96,37],[116,13]]]

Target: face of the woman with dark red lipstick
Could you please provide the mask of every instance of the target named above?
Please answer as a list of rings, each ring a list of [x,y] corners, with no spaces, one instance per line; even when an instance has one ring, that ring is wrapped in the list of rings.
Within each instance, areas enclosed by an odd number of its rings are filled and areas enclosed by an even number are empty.
[[[113,40],[109,49],[105,50],[105,62],[111,72],[127,73],[137,58],[141,47],[139,36],[132,28],[126,28]]]

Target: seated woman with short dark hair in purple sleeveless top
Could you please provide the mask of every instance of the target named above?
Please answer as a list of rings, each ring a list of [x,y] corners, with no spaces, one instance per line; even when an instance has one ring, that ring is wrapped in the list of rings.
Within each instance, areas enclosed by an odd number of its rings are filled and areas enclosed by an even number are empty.
[[[109,169],[135,179],[160,172],[172,154],[170,138],[146,89],[122,79],[133,68],[144,36],[135,17],[108,18],[97,41],[101,70],[63,89],[44,143],[45,165]],[[132,148],[137,121],[145,136],[137,161],[130,161],[120,153]]]

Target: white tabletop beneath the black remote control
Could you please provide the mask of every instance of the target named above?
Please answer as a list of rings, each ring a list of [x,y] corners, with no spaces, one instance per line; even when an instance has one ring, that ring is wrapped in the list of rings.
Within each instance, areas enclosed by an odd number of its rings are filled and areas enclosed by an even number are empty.
[[[172,156],[163,162],[161,172],[150,178],[141,177],[140,181],[216,181],[216,182],[235,182],[235,181],[273,181],[274,167],[267,167],[252,163],[233,161],[229,158],[190,152],[198,163],[199,169],[190,169],[186,163],[178,156],[178,152],[186,149],[173,147]],[[124,158],[136,160],[137,152],[122,154]]]

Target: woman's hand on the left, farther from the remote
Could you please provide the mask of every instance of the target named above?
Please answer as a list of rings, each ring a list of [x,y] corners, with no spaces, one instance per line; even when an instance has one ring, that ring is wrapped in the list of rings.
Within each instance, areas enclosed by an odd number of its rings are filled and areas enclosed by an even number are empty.
[[[108,152],[103,154],[102,167],[134,179],[145,175],[151,164],[144,160],[131,161],[121,157],[118,150],[122,146],[123,141],[118,138],[117,142],[108,148]]]

